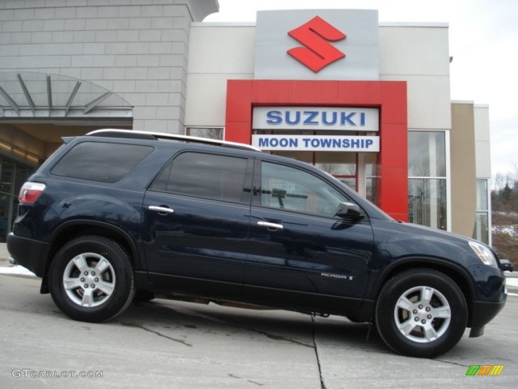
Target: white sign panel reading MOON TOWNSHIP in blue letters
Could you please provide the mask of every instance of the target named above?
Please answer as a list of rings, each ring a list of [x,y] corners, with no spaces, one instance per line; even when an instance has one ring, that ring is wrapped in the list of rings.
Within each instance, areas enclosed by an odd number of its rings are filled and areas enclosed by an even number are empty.
[[[379,136],[252,135],[252,146],[262,150],[380,151]]]

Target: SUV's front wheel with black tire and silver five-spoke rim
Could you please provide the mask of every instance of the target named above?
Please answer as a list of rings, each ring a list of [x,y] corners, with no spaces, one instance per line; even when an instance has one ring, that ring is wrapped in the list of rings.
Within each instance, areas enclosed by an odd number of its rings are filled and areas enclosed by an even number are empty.
[[[462,290],[447,275],[414,269],[393,277],[376,303],[376,327],[395,352],[433,358],[449,351],[466,329],[468,308]]]

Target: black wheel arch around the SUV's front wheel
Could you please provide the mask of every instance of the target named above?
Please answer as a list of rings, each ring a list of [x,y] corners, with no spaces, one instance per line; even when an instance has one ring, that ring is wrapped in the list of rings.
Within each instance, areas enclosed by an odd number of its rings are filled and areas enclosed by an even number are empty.
[[[472,301],[474,300],[474,296],[476,296],[476,291],[473,284],[469,281],[470,277],[466,270],[447,260],[424,257],[408,257],[396,260],[382,271],[372,289],[371,297],[374,300],[377,300],[383,285],[385,285],[387,281],[391,280],[401,272],[416,268],[431,269],[441,272],[449,276],[458,285],[458,287],[461,288],[468,306],[468,327],[470,327]]]

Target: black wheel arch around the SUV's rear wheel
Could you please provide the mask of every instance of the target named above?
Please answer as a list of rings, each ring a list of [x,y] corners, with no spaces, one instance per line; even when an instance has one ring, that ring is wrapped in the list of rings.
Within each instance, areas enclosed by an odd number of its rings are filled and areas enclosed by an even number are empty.
[[[40,293],[49,293],[48,271],[55,254],[68,241],[82,235],[99,235],[117,242],[128,253],[133,268],[141,268],[138,248],[130,234],[122,228],[103,221],[83,219],[70,220],[60,225],[59,228],[56,228],[49,239],[51,247],[47,256],[45,273],[41,281]]]

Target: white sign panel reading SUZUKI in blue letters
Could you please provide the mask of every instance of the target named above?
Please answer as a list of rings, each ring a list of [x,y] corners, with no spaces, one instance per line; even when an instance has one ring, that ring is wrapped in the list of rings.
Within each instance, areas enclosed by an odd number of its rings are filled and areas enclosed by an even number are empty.
[[[379,131],[378,108],[254,107],[254,130]]]

